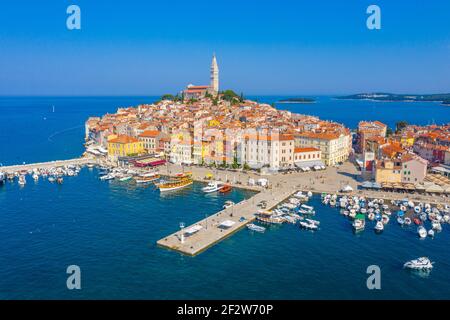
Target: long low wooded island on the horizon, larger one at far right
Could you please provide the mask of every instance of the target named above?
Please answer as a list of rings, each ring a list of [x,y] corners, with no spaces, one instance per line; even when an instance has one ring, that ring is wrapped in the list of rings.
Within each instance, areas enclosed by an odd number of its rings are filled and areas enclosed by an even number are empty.
[[[395,94],[395,93],[358,93],[340,96],[336,99],[375,100],[375,101],[405,101],[405,102],[442,102],[450,105],[450,93],[445,94]]]

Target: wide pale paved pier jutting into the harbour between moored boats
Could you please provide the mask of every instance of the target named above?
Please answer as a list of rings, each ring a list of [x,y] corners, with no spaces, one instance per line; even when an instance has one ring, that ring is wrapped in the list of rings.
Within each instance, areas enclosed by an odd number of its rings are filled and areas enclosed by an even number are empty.
[[[260,209],[257,206],[260,201],[267,201],[267,208],[273,208],[290,197],[295,191],[283,188],[262,191],[250,199],[235,204],[231,208],[219,211],[187,226],[183,231],[177,231],[158,240],[157,244],[186,255],[197,255],[255,220],[255,213]],[[244,217],[245,220],[240,221],[241,217]],[[221,226],[221,223],[227,220],[233,221],[234,224],[228,228]],[[201,229],[191,235],[186,234],[186,230],[194,226],[201,226]]]

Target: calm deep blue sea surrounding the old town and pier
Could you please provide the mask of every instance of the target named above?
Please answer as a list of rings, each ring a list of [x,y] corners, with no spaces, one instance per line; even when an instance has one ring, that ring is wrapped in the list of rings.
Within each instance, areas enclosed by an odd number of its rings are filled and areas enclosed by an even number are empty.
[[[2,98],[0,162],[78,156],[88,115],[151,99]],[[373,111],[365,108],[370,102],[320,99],[323,104],[283,106],[301,113],[321,110],[322,118],[349,126],[357,122],[355,114],[372,118]],[[355,108],[347,118],[342,108],[349,103]],[[450,121],[446,107],[406,105],[414,111],[401,112],[401,119]],[[390,111],[373,118],[397,121],[397,104],[376,106]],[[156,240],[177,230],[180,221],[192,223],[218,211],[227,199],[251,196],[238,190],[204,195],[200,187],[161,196],[152,187],[99,181],[96,170],[88,169],[62,186],[30,179],[24,188],[0,187],[0,298],[450,298],[448,225],[435,239],[420,240],[415,228],[394,222],[381,235],[370,223],[354,235],[350,222],[318,198],[311,201],[321,221],[318,232],[293,225],[265,234],[242,230],[193,258],[157,248]],[[422,255],[436,261],[428,277],[402,269],[406,260]],[[81,267],[80,291],[66,289],[65,270],[71,264]],[[366,288],[366,268],[373,264],[382,270],[379,291]]]

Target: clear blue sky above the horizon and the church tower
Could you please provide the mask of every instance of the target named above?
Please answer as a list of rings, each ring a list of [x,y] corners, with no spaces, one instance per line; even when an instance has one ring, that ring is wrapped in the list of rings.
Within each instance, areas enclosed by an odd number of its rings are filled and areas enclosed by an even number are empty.
[[[0,2],[0,95],[176,93],[209,83],[213,52],[248,95],[450,92],[450,1]]]

